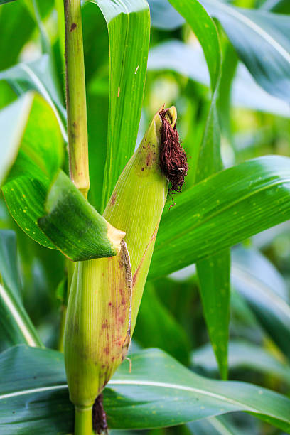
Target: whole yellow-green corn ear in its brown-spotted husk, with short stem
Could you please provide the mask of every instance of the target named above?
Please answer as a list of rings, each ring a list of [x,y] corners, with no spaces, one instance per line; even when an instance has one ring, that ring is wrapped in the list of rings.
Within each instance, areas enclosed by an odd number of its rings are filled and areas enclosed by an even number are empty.
[[[166,117],[174,127],[175,107]],[[92,405],[124,360],[134,331],[168,192],[159,167],[161,127],[157,112],[104,210],[104,218],[126,232],[121,253],[75,267],[64,343],[75,434],[92,432]]]

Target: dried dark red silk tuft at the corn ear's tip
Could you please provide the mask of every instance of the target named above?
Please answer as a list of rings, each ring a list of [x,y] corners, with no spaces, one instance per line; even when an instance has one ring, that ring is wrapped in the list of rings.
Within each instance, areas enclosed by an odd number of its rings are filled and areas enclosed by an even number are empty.
[[[171,184],[169,193],[178,193],[181,192],[184,178],[188,173],[186,152],[180,144],[176,125],[172,128],[167,119],[170,117],[168,109],[161,111],[159,116],[162,121],[159,164],[161,172]]]

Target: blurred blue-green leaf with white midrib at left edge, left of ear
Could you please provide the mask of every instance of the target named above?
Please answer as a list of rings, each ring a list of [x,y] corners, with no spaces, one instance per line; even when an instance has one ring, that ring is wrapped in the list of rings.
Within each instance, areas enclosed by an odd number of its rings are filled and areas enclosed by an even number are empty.
[[[11,230],[0,230],[0,323],[10,345],[27,343],[43,346],[21,300],[20,275],[17,265],[16,236]]]

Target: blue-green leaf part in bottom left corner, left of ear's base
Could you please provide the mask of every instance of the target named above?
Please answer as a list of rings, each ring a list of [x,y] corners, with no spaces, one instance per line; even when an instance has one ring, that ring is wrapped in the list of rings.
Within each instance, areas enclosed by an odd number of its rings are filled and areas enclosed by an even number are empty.
[[[73,433],[63,354],[37,348],[31,353],[31,349],[19,345],[0,355],[1,434]]]

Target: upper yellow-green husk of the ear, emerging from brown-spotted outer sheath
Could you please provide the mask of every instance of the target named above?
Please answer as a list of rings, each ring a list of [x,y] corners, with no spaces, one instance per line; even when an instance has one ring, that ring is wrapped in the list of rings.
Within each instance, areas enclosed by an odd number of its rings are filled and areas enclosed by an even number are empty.
[[[168,193],[168,181],[159,166],[160,112],[154,116],[139,148],[124,168],[104,210],[104,218],[126,232],[124,240],[129,249],[133,275],[132,333]],[[166,117],[171,127],[175,127],[176,108],[168,109]]]

